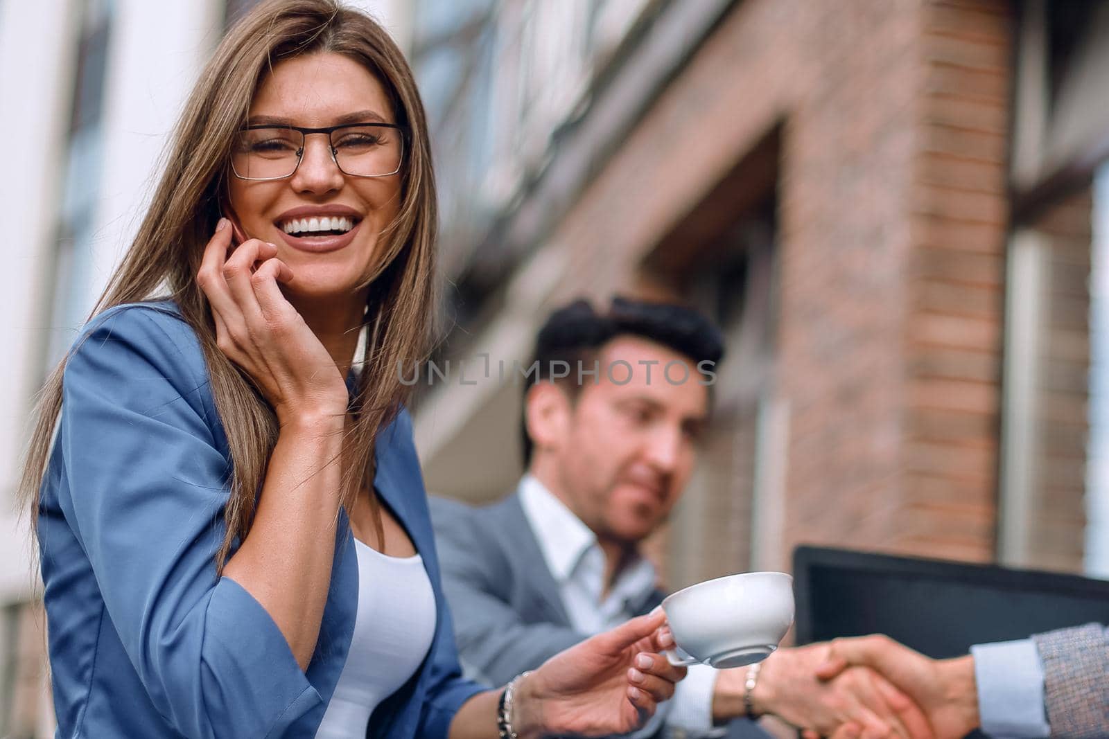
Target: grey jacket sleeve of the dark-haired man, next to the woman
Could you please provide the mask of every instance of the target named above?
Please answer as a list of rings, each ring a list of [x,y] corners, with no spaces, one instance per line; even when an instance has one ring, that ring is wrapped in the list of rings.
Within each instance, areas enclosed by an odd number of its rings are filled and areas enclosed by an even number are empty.
[[[469,525],[469,516],[480,511],[444,500],[433,500],[431,511],[459,654],[476,679],[503,685],[589,636],[519,616],[509,602],[507,568]]]

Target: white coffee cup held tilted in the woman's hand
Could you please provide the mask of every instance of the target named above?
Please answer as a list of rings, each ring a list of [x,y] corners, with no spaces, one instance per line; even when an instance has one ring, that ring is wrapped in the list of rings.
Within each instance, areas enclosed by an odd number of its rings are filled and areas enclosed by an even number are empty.
[[[793,577],[749,572],[709,579],[662,602],[676,650],[671,665],[703,663],[719,669],[765,659],[793,623]]]

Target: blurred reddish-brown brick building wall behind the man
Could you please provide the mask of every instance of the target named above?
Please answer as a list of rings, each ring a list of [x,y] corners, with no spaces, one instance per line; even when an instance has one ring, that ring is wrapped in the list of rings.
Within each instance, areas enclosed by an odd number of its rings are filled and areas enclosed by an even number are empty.
[[[779,132],[765,392],[788,408],[788,433],[782,546],[765,564],[784,566],[801,542],[993,557],[1010,12],[1003,0],[739,2],[552,236],[570,252],[556,300],[633,287],[663,235],[698,232],[682,224],[710,194],[728,207],[715,188]],[[745,510],[733,503],[699,507]],[[749,546],[688,536],[671,534],[678,561],[696,547],[734,563]]]

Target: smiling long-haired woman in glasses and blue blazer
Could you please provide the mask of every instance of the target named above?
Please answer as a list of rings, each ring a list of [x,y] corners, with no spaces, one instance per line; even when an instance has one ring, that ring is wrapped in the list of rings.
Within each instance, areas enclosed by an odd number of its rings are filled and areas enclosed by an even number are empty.
[[[29,449],[58,736],[604,735],[672,695],[661,614],[460,677],[394,371],[435,305],[428,152],[369,18],[273,0],[220,44]]]

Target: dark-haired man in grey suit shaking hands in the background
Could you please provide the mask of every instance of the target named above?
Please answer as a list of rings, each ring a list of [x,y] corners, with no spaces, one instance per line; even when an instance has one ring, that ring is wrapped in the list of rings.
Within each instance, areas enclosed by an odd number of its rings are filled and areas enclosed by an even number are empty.
[[[577,301],[551,315],[525,391],[527,473],[486,507],[431,504],[470,676],[502,685],[661,602],[640,546],[689,480],[722,353],[719,331],[678,306],[617,298],[601,312]],[[928,736],[915,705],[872,670],[818,680],[828,649],[781,649],[751,668],[695,665],[639,736],[713,736],[764,714],[822,735],[853,723],[865,736]],[[762,733],[747,721],[731,731]]]

